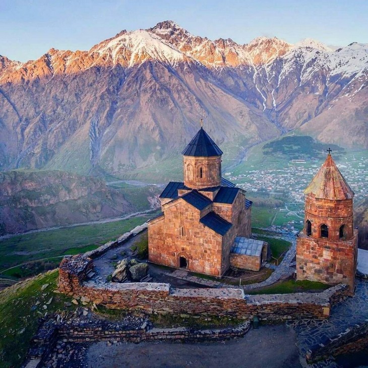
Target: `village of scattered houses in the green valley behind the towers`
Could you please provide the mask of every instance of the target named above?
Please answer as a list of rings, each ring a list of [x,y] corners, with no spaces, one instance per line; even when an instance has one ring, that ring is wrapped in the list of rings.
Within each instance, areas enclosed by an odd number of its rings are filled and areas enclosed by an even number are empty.
[[[333,152],[332,152],[333,154]],[[226,171],[224,177],[245,190],[247,196],[263,199],[280,199],[278,206],[267,211],[272,214],[267,227],[276,231],[297,233],[303,227],[304,189],[319,170],[320,159],[293,159],[285,165],[249,165],[247,170]],[[366,152],[347,154],[336,162],[341,173],[348,179],[354,191],[354,203],[368,195],[368,155]]]

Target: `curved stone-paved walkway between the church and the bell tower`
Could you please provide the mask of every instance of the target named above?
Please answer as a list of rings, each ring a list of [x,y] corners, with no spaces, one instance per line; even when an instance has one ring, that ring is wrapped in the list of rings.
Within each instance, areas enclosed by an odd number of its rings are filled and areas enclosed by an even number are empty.
[[[283,258],[279,266],[270,265],[269,268],[273,268],[275,271],[271,274],[271,276],[267,280],[256,282],[254,284],[244,285],[244,286],[236,286],[236,285],[229,285],[221,281],[207,280],[202,277],[193,276],[187,270],[183,270],[183,269],[175,270],[174,272],[171,272],[171,273],[166,273],[166,275],[175,277],[181,280],[185,280],[185,281],[195,282],[196,284],[204,285],[207,287],[241,288],[244,291],[249,291],[249,290],[259,289],[265,286],[270,286],[284,277],[289,277],[293,275],[295,272],[295,262],[293,262],[293,259],[296,253],[295,236],[290,234],[290,235],[275,236],[275,237],[278,237],[278,238],[281,237],[284,240],[290,241],[291,247],[286,252],[285,257]]]

